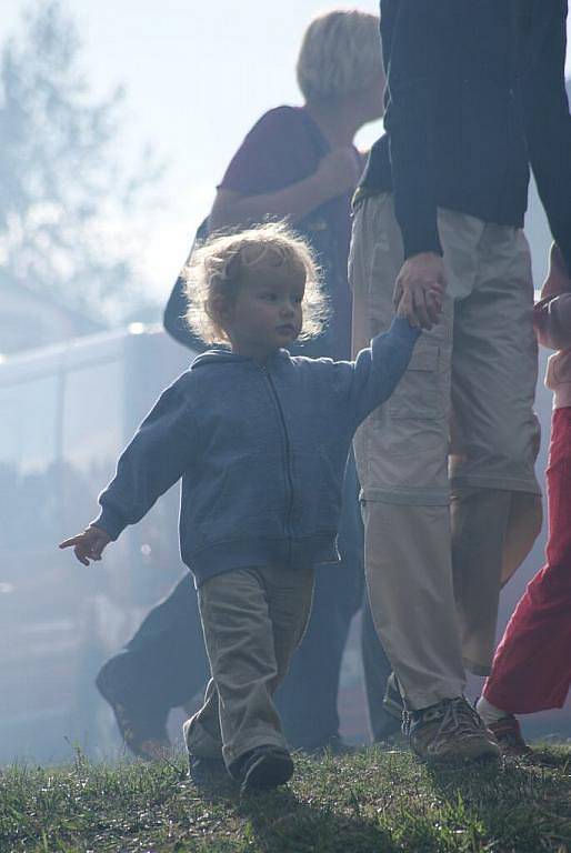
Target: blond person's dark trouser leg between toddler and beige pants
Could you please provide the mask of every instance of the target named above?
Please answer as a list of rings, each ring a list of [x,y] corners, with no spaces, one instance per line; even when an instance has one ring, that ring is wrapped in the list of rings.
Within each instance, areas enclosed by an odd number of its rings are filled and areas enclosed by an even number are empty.
[[[334,749],[339,743],[339,676],[349,626],[362,599],[362,540],[351,455],[338,540],[341,562],[317,568],[308,630],[276,695],[286,736],[297,749]]]

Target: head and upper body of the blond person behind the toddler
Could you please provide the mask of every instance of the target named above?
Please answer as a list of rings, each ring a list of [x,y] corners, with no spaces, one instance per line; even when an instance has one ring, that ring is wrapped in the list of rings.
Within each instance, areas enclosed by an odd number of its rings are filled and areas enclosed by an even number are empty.
[[[382,114],[379,19],[359,11],[315,18],[297,77],[303,106],[278,107],[254,124],[218,188],[209,230],[287,217],[318,252],[333,305],[312,352],[348,358],[350,199],[363,167],[353,138]]]

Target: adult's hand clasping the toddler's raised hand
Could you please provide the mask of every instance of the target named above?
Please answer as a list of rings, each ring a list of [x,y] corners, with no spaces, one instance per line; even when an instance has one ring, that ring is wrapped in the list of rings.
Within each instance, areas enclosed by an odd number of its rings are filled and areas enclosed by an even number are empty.
[[[411,325],[430,331],[439,322],[445,290],[444,262],[434,252],[421,252],[408,258],[394,284],[393,303],[397,312],[404,300],[402,312]]]

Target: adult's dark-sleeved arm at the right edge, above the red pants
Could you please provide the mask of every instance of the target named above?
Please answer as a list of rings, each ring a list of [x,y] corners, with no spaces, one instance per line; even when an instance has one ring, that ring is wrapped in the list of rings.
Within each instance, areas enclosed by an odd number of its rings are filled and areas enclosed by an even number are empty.
[[[553,239],[571,269],[571,117],[565,92],[568,0],[537,0],[534,62],[523,80],[531,168]]]

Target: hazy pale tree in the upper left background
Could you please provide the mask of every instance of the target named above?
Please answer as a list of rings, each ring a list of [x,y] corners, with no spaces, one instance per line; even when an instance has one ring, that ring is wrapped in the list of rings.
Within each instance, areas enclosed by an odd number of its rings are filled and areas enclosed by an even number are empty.
[[[121,88],[98,100],[60,0],[24,14],[0,68],[0,269],[107,323],[147,301],[138,268],[162,169],[120,143]]]

